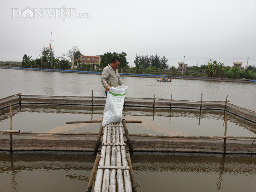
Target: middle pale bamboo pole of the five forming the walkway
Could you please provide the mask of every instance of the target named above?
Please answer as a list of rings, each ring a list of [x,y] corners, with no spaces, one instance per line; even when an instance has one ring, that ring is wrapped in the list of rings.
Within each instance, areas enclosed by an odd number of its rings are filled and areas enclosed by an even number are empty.
[[[112,129],[112,142],[116,142],[116,127]],[[111,166],[116,166],[116,146],[111,149]],[[116,192],[116,169],[110,170],[109,192]]]

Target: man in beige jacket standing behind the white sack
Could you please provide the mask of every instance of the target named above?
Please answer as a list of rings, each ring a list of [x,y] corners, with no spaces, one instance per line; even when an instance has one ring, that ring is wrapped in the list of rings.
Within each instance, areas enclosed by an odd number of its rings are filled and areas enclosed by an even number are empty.
[[[118,85],[123,85],[122,79],[118,73],[118,66],[120,65],[120,60],[114,57],[108,66],[106,66],[101,74],[101,83],[105,88],[105,93],[109,91],[110,87],[117,87]]]

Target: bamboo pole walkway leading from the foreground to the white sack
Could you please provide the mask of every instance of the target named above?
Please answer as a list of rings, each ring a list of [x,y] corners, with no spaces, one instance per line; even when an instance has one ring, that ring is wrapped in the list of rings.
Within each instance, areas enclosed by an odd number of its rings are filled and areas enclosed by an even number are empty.
[[[92,190],[96,170],[94,192],[116,192],[116,188],[118,192],[136,192],[130,153],[125,149],[123,128],[127,132],[126,136],[129,137],[124,120],[101,126],[98,140],[103,131],[102,148],[101,152],[97,153],[86,192]],[[98,151],[97,145],[96,151]]]

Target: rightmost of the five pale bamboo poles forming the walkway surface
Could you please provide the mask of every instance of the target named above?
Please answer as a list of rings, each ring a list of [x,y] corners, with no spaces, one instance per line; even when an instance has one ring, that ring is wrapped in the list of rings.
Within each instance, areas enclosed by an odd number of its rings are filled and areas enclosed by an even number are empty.
[[[119,134],[120,134],[120,142],[124,142],[124,135],[122,128],[119,128]],[[122,164],[123,166],[128,166],[128,162],[126,160],[126,151],[125,146],[121,146],[121,155],[122,155]],[[124,186],[126,192],[132,192],[132,184],[131,184],[131,178],[129,170],[124,170]]]

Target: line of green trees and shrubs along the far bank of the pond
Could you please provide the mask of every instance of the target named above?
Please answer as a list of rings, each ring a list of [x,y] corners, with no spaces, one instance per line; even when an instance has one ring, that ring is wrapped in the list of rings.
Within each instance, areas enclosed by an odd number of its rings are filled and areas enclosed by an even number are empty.
[[[52,56],[52,63],[51,63]],[[43,47],[41,50],[40,58],[32,59],[31,56],[26,54],[22,58],[22,67],[31,68],[54,68],[54,69],[70,69],[71,63],[68,58],[74,58],[74,66],[77,70],[94,70],[92,64],[82,64],[80,57],[82,56],[80,48],[73,46],[67,53],[61,53],[60,56],[55,56],[54,51],[48,47]],[[101,58],[98,68],[103,70],[108,66],[112,58],[118,57],[120,59],[119,70],[126,73],[145,73],[145,74],[166,74],[166,70],[170,72],[170,75],[178,74],[178,69],[174,66],[168,65],[168,59],[165,56],[156,55],[136,55],[134,59],[135,67],[129,66],[127,61],[127,54],[125,52],[105,52],[99,55]],[[77,60],[77,61],[76,61]],[[186,76],[206,76],[206,77],[218,77],[218,78],[245,78],[256,79],[255,66],[248,66],[246,70],[233,66],[224,66],[224,63],[217,62],[216,60],[210,60],[206,65],[193,66],[190,69],[184,70]]]

